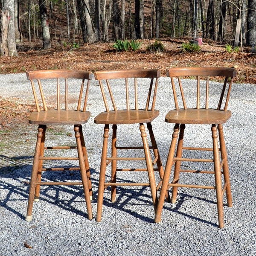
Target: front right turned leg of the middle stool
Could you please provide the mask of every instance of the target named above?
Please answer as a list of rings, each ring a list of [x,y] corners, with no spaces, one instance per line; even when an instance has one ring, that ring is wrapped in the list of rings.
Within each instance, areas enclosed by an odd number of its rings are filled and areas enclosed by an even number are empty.
[[[150,155],[149,147],[148,147],[147,134],[145,132],[145,126],[143,125],[143,123],[140,123],[140,135],[142,137],[146,166],[148,169],[148,179],[149,179],[149,184],[150,184],[150,189],[151,189],[154,211],[156,212],[156,210],[157,210],[157,187],[156,187],[156,181],[155,181],[155,177],[154,177],[152,159],[151,159],[151,155]]]

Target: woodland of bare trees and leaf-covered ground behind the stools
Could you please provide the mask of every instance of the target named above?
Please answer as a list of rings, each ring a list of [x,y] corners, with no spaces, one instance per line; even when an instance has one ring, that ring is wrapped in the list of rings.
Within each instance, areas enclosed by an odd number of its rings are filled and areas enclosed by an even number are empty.
[[[136,67],[164,76],[201,65],[236,67],[236,81],[256,83],[256,0],[2,0],[0,10],[2,74]],[[198,37],[199,50],[184,52]],[[116,51],[125,39],[140,49]],[[163,51],[148,51],[156,40]]]

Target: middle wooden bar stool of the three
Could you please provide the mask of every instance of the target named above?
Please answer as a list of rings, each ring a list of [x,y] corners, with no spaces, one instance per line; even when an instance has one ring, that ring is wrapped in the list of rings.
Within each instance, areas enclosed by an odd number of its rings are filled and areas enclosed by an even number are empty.
[[[152,130],[151,121],[158,115],[159,111],[154,109],[157,83],[160,77],[160,70],[112,70],[112,71],[96,71],[94,73],[95,79],[99,80],[103,100],[106,111],[100,113],[95,117],[96,124],[104,124],[102,159],[99,176],[99,194],[97,205],[96,221],[101,221],[102,218],[102,204],[103,192],[106,187],[111,186],[111,201],[116,199],[116,186],[150,186],[154,209],[157,207],[157,189],[160,184],[156,186],[154,171],[158,171],[160,177],[163,177],[163,166],[157,149],[157,143]],[[118,80],[117,80],[118,79]],[[131,87],[129,85],[132,84]],[[146,87],[142,94],[139,93],[141,87]],[[122,88],[121,88],[122,87]],[[119,91],[116,91],[118,89]],[[116,99],[116,95],[118,98]],[[123,96],[123,97],[122,97]],[[131,97],[132,96],[132,97]],[[122,99],[121,99],[122,98]],[[111,109],[109,105],[112,105]],[[131,105],[134,104],[134,108]],[[144,123],[147,124],[151,146],[148,145],[147,134]],[[131,125],[139,124],[140,135],[143,146],[124,146],[119,143],[117,145],[117,125]],[[111,157],[108,157],[108,137],[109,125],[112,125],[112,144]],[[122,130],[121,130],[122,131]],[[129,136],[129,134],[128,134]],[[131,137],[131,136],[130,136]],[[143,157],[118,157],[117,151],[143,149]],[[154,160],[151,159],[150,150],[154,154]],[[120,161],[138,161],[145,160],[146,168],[117,168],[117,162]],[[111,180],[105,181],[106,167],[111,163]],[[132,164],[132,163],[131,163]],[[134,163],[133,163],[134,164]],[[157,168],[153,168],[156,165]],[[116,181],[117,172],[148,172],[147,183],[124,183]]]

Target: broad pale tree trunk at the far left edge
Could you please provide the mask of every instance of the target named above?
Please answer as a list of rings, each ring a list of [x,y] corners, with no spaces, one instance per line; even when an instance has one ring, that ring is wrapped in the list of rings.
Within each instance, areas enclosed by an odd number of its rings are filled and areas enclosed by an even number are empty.
[[[4,0],[2,7],[0,17],[1,56],[18,56],[15,44],[14,0]]]

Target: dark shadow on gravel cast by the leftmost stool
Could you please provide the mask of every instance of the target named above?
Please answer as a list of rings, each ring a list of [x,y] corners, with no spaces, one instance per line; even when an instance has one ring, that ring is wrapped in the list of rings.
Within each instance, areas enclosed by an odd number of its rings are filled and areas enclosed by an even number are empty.
[[[32,162],[33,156],[6,157],[0,155],[0,206],[22,219],[26,215],[26,210],[23,212],[23,205],[26,205],[28,201]],[[90,171],[91,173],[95,172],[94,169],[90,169]],[[80,173],[69,172],[66,174],[61,172],[56,174],[56,172],[45,172],[43,179],[45,181],[80,181]],[[92,179],[92,183],[95,191],[96,180]],[[81,216],[84,216],[86,212],[82,186],[41,186],[40,201]],[[38,204],[40,204],[40,201]],[[76,203],[83,202],[84,209],[81,208],[80,210],[75,207]],[[34,209],[33,214],[36,214]]]

